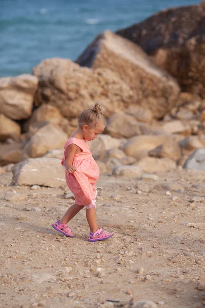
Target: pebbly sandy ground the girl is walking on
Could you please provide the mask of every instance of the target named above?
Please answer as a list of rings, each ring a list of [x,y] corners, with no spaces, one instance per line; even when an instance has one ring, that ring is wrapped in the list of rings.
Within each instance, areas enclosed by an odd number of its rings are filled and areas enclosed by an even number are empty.
[[[89,243],[84,209],[70,223],[76,237],[51,227],[73,203],[68,188],[12,186],[10,173],[0,175],[0,306],[115,307],[133,298],[203,307],[205,174],[158,176],[101,176],[98,222],[115,235]]]

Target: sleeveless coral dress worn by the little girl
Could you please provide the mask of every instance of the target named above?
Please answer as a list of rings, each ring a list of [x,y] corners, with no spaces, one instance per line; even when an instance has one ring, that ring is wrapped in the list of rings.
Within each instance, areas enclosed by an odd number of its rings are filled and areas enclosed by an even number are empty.
[[[84,205],[86,208],[95,207],[97,189],[95,183],[99,179],[99,168],[92,157],[88,142],[84,139],[70,138],[64,146],[64,157],[61,164],[64,166],[66,159],[66,148],[70,144],[77,145],[81,152],[74,155],[72,165],[76,171],[70,174],[66,170],[66,183],[75,197],[75,203]]]

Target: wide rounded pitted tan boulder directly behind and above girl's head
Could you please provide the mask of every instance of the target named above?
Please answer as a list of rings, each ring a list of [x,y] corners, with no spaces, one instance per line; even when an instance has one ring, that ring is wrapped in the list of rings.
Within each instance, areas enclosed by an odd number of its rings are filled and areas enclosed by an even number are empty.
[[[129,85],[108,68],[92,70],[71,60],[54,58],[34,67],[33,74],[39,79],[35,105],[49,103],[69,119],[92,108],[96,101],[100,101],[109,116],[114,110],[124,110],[134,100]]]

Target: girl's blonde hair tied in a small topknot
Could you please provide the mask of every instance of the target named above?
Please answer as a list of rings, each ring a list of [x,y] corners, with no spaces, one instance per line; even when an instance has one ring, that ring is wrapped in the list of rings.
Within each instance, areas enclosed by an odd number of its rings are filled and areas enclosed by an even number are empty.
[[[98,122],[103,123],[106,126],[106,118],[101,112],[102,108],[100,104],[95,103],[92,109],[87,109],[80,113],[78,117],[78,125],[88,125],[90,127],[95,127]]]

